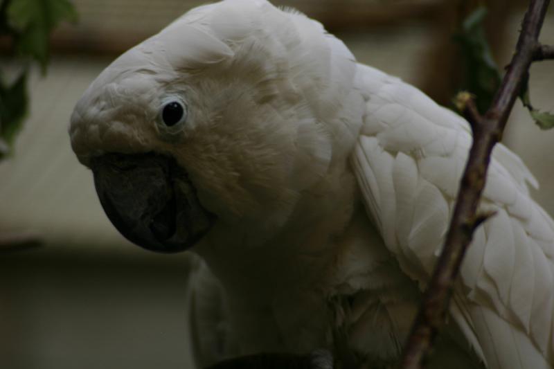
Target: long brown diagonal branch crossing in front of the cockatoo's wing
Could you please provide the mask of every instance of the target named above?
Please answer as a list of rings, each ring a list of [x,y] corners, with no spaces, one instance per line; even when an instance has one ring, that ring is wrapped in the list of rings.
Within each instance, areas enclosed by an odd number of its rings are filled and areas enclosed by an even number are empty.
[[[454,207],[443,252],[436,264],[433,276],[406,341],[402,360],[403,369],[422,368],[422,361],[429,352],[434,338],[445,322],[449,298],[463,255],[472,241],[473,231],[483,222],[476,215],[485,186],[490,155],[494,145],[500,140],[514,102],[521,89],[523,76],[528,73],[531,62],[537,53],[538,36],[549,0],[531,0],[524,17],[515,55],[508,66],[499,91],[492,106],[484,116],[472,109],[468,101],[464,113],[472,124],[474,141],[467,159],[461,187]]]

